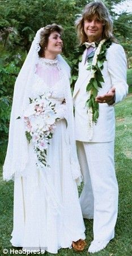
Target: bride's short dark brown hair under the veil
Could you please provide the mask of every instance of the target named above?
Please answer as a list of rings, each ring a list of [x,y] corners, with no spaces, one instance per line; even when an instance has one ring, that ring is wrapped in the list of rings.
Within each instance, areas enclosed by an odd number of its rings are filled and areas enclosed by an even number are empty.
[[[63,28],[62,26],[53,23],[52,25],[47,25],[44,29],[40,32],[40,51],[38,52],[39,56],[42,57],[44,54],[45,47],[48,46],[49,36],[52,32],[57,31],[59,34],[62,34]]]

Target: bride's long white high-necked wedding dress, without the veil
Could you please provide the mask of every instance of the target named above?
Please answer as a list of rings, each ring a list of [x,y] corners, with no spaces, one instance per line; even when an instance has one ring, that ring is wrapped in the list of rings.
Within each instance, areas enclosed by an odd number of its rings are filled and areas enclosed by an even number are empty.
[[[47,161],[50,169],[37,169],[35,152],[29,144],[27,175],[15,176],[13,246],[29,250],[57,253],[71,247],[84,235],[84,222],[78,190],[71,173],[69,145],[66,143],[63,74],[58,61],[39,59],[36,66],[38,87],[52,90],[52,100],[60,107],[62,119],[57,121],[50,140]]]

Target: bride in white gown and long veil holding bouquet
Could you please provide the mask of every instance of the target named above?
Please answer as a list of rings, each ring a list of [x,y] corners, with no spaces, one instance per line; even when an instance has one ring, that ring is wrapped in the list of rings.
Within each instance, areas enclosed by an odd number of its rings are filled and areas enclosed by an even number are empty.
[[[32,42],[15,83],[3,166],[4,180],[14,180],[12,245],[54,254],[85,239],[61,34],[61,26],[48,25]]]

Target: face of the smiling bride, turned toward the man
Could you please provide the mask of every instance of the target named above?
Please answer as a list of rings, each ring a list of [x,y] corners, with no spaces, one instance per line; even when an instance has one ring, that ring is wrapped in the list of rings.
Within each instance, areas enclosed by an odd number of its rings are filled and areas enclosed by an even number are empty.
[[[53,55],[60,54],[62,52],[62,46],[61,35],[57,31],[52,32],[49,36],[46,52]]]

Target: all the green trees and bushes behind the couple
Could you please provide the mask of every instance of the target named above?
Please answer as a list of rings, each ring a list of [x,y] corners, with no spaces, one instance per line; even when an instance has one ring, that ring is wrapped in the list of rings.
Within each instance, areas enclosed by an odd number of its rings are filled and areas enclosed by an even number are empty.
[[[63,55],[72,67],[76,44],[74,22],[87,0],[0,0],[0,162],[3,163],[15,79],[33,37],[40,27],[56,22],[63,26]],[[124,46],[129,68],[132,68],[132,14],[115,13],[113,8],[123,0],[104,0],[114,21],[114,35]],[[131,72],[128,82],[131,85]]]

